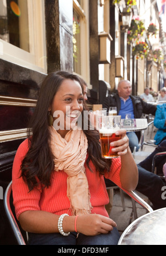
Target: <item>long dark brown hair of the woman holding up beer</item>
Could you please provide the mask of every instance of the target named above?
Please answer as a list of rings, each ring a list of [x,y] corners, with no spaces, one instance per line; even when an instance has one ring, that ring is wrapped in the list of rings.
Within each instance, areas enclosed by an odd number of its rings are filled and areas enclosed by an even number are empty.
[[[82,92],[84,92],[83,84],[78,76],[68,72],[50,73],[44,79],[40,88],[37,106],[34,114],[29,122],[28,138],[29,150],[25,155],[21,165],[21,176],[27,182],[29,190],[38,187],[41,183],[44,187],[51,184],[51,173],[54,170],[53,154],[49,147],[50,133],[48,129],[48,109],[53,102],[54,96],[58,91],[61,83],[65,79],[75,80],[80,83]],[[88,110],[86,104],[83,103],[82,129],[84,127],[84,111]],[[99,133],[97,130],[84,130],[88,141],[88,153],[86,164],[90,168],[90,160],[95,168],[103,174],[105,169],[110,168],[110,161],[101,157],[101,149]]]

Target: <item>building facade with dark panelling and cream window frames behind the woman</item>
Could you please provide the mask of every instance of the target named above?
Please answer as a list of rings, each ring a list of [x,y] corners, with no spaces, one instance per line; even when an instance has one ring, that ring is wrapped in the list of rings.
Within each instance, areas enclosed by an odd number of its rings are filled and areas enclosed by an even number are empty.
[[[18,145],[27,137],[28,119],[38,99],[40,84],[49,72],[76,73],[88,84],[89,104],[99,101],[100,81],[115,92],[120,79],[132,83],[133,95],[147,86],[158,91],[165,73],[151,56],[133,56],[128,42],[133,16],[158,34],[149,49],[164,47],[165,36],[156,1],[137,0],[126,13],[120,0],[2,0],[0,2],[0,187],[12,179]],[[154,3],[155,2],[155,3]],[[129,14],[129,15],[128,15]],[[123,23],[123,18],[128,18]],[[145,38],[146,39],[146,38]],[[14,243],[0,199],[0,244]]]

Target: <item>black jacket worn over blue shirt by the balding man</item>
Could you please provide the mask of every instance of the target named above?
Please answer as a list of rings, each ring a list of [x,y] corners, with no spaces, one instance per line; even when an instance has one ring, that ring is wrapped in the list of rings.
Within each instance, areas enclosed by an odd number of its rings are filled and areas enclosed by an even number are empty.
[[[130,96],[133,103],[134,108],[134,118],[141,118],[142,114],[152,114],[155,116],[155,111],[157,109],[156,106],[152,104],[148,104],[144,102],[141,98],[138,96]],[[108,96],[105,101],[102,103],[103,108],[107,108],[107,111],[110,107],[117,107],[117,114],[120,112],[121,109],[121,100],[118,96],[118,93],[112,93],[110,96]],[[140,139],[141,133],[136,132],[138,140]]]

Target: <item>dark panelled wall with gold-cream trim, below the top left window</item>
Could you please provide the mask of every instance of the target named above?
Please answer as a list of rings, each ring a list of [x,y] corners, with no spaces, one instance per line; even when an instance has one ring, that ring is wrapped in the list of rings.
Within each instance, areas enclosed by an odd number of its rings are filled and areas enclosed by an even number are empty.
[[[0,59],[0,186],[12,179],[12,164],[19,144],[27,138],[27,124],[45,74]],[[0,200],[0,244],[13,243],[3,200]],[[7,240],[6,240],[7,239]],[[12,242],[11,242],[12,240]]]

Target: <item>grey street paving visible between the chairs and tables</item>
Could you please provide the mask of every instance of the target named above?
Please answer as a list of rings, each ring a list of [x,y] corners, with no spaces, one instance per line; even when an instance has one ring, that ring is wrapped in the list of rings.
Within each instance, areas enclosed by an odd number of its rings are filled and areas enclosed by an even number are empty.
[[[144,131],[144,142],[150,142],[151,140],[153,140],[156,131],[157,129],[154,128],[153,125],[149,126],[149,128]],[[141,162],[141,160],[146,158],[148,154],[151,154],[151,152],[153,152],[154,149],[155,147],[151,145],[144,145],[143,152],[141,152],[141,150],[139,149],[138,153],[134,155],[134,159],[136,160],[136,163],[138,164],[139,162]],[[142,199],[144,199],[149,205],[151,205],[151,202],[149,202],[148,198],[145,195],[137,191],[136,193]],[[134,214],[133,214],[133,208],[132,208],[132,200],[129,197],[129,195],[127,195],[125,192],[123,192],[123,195],[125,198],[125,210],[123,210],[123,207],[122,207],[120,189],[119,188],[113,189],[113,193],[112,193],[113,202],[112,202],[110,218],[116,222],[117,229],[120,232],[120,234],[122,234],[123,231],[128,227],[128,225],[135,220]],[[136,203],[136,208],[137,208],[138,218],[147,213],[147,210],[138,203]]]

